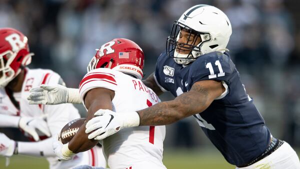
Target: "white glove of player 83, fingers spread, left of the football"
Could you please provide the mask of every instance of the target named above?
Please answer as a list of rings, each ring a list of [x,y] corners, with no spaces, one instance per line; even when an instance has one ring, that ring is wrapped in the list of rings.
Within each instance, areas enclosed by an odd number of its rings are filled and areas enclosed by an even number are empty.
[[[40,117],[21,117],[18,123],[19,128],[30,134],[35,141],[39,140],[36,129],[47,136],[51,136],[48,125],[44,118],[46,115]]]

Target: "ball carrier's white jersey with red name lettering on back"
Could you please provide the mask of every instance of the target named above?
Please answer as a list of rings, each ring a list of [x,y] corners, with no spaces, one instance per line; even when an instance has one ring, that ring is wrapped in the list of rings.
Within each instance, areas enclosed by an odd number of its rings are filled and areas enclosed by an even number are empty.
[[[160,101],[141,80],[116,70],[97,68],[88,72],[80,82],[82,102],[85,93],[97,87],[115,92],[112,99],[115,112],[136,111]],[[162,163],[164,137],[164,125],[124,128],[102,140],[103,153],[113,169],[165,168]]]

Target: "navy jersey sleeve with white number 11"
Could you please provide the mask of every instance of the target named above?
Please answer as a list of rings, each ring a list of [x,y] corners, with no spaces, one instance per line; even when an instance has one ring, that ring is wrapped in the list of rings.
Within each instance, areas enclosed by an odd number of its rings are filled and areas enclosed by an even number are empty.
[[[221,52],[211,52],[200,56],[191,64],[191,82],[200,80],[226,81],[230,78],[235,65],[230,57]]]

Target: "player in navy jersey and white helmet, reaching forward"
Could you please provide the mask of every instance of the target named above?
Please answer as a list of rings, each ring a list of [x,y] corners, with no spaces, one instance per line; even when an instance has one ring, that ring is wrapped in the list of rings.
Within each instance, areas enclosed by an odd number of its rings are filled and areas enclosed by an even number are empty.
[[[230,21],[218,8],[200,4],[187,9],[174,22],[155,72],[143,80],[156,94],[169,91],[176,98],[126,112],[128,118],[99,109],[98,116],[86,124],[86,132],[93,131],[89,139],[101,140],[125,127],[170,124],[193,115],[236,168],[300,168],[296,152],[272,136],[247,95],[226,52],[230,35]],[[57,97],[54,100],[61,102]]]

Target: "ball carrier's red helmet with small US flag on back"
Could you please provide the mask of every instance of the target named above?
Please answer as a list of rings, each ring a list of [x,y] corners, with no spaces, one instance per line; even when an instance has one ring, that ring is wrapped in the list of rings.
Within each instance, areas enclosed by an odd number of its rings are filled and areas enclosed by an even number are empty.
[[[96,55],[87,66],[87,72],[106,67],[131,74],[138,79],[143,77],[144,54],[135,42],[114,38],[96,50]]]

